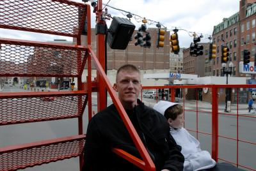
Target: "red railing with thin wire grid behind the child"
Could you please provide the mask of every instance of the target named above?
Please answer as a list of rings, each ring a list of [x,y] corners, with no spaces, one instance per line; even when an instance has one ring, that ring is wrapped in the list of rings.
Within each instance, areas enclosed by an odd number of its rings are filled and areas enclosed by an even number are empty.
[[[197,102],[197,96],[196,96],[196,110],[186,110],[186,111],[193,111],[193,112],[196,112],[196,130],[189,130],[189,131],[194,131],[196,133],[196,135],[198,133],[202,133],[202,134],[205,134],[205,135],[211,135],[212,137],[212,158],[216,161],[218,160],[222,160],[222,161],[226,161],[228,163],[232,163],[234,165],[236,165],[237,167],[243,167],[243,168],[248,168],[250,170],[254,170],[256,171],[255,168],[250,168],[250,167],[246,167],[244,165],[240,165],[239,164],[239,158],[238,158],[238,155],[239,155],[239,150],[238,150],[238,147],[239,147],[239,142],[244,142],[244,143],[247,143],[247,144],[252,144],[252,145],[256,145],[256,143],[254,142],[249,142],[249,141],[246,141],[246,140],[241,140],[239,139],[239,130],[238,130],[238,126],[237,126],[237,137],[236,138],[230,138],[230,137],[225,137],[225,136],[222,136],[219,134],[218,132],[218,116],[219,115],[233,115],[233,116],[236,116],[236,119],[237,119],[237,125],[238,125],[238,121],[239,121],[239,117],[252,117],[252,118],[255,118],[255,116],[248,116],[248,115],[243,115],[243,114],[238,114],[238,110],[239,110],[239,107],[238,107],[238,89],[243,87],[243,88],[256,88],[256,85],[253,85],[253,84],[250,84],[250,85],[163,85],[163,86],[143,86],[142,89],[141,89],[141,100],[142,100],[142,93],[143,93],[143,90],[144,89],[171,89],[171,100],[170,101],[174,101],[174,94],[173,92],[175,92],[175,89],[197,89],[198,88],[204,88],[204,87],[208,87],[208,88],[211,88],[212,89],[212,133],[205,133],[203,131],[198,131],[198,112],[204,112],[204,113],[210,113],[210,112],[207,112],[207,111],[200,111],[198,110],[198,102]],[[220,88],[237,88],[237,112],[236,114],[227,114],[227,113],[224,113],[224,112],[219,112],[218,111],[218,89]],[[184,96],[184,93],[183,93],[183,104],[185,104],[185,96]],[[156,101],[157,103],[157,101]],[[184,105],[183,105],[184,107]],[[184,108],[184,111],[185,111],[185,108]],[[230,139],[230,140],[235,140],[236,141],[236,144],[237,144],[237,156],[236,156],[236,163],[233,163],[231,161],[227,161],[227,160],[224,160],[222,158],[218,158],[218,138],[221,137],[221,138],[227,138],[227,139]]]

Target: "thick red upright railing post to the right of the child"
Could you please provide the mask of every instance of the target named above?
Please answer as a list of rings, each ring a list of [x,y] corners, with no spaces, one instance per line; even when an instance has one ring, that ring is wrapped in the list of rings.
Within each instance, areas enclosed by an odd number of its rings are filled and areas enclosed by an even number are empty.
[[[218,89],[212,85],[212,159],[218,162]]]

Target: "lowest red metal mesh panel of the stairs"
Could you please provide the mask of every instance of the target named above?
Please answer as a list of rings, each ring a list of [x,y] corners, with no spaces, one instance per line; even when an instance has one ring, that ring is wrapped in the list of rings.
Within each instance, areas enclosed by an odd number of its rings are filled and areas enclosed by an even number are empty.
[[[0,152],[0,170],[17,170],[79,156],[83,152],[85,139],[42,144],[10,152]]]

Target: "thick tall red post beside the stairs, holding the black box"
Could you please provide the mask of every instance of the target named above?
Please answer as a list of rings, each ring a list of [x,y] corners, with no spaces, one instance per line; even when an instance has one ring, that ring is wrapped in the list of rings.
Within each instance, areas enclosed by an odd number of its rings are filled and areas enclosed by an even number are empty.
[[[97,24],[106,24],[104,20],[100,20],[102,15],[102,0],[98,0],[97,4]],[[103,70],[106,70],[105,66],[105,35],[97,34],[97,58],[99,59],[99,63],[102,66]],[[97,94],[97,107],[98,112],[106,108],[106,85],[104,84],[103,79],[99,75],[99,71],[97,71],[97,83],[98,86],[98,94]]]

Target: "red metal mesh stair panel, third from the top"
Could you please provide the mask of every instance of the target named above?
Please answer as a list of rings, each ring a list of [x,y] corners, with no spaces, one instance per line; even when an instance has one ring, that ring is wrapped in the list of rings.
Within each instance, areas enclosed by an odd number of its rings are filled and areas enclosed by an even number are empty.
[[[77,117],[86,103],[86,95],[3,98],[0,126]]]

